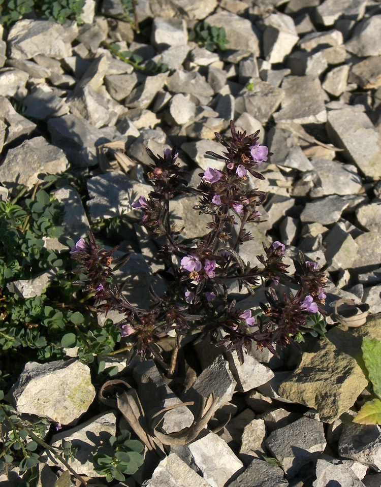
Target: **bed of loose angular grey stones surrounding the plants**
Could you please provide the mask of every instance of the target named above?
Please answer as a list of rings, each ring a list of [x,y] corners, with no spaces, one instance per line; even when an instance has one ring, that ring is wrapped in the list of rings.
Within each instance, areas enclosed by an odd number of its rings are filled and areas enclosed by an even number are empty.
[[[0,199],[11,197],[17,184],[33,186],[40,173],[72,167],[90,176],[91,221],[122,212],[134,216],[131,203],[150,190],[143,176],[146,147],[156,154],[176,145],[189,180],[197,184],[208,167],[223,168],[205,151],[221,151],[214,132],[227,131],[233,119],[248,133],[261,129],[261,142],[273,153],[261,166],[266,179],[251,181],[268,193],[261,209],[267,222],[251,229],[255,240],[242,245],[243,258],[252,261],[263,241],[281,240],[289,264],[302,250],[311,261],[328,265],[329,314],[339,298],[367,303],[374,314],[360,331],[332,329],[301,362],[292,353],[276,359],[253,351],[240,366],[234,354],[215,358],[210,350],[208,361],[206,344],[195,346],[204,371],[180,399],[217,388],[220,403],[213,421],[231,419],[218,433],[210,426],[186,447],[171,447],[149,475],[135,476],[136,485],[380,485],[381,430],[344,424],[342,414],[353,414],[350,408],[367,385],[354,359],[361,336],[381,339],[376,315],[381,312],[381,5],[373,0],[140,0],[138,20],[152,24],[150,42],[144,44],[134,40],[120,0],[98,2],[95,16],[94,4],[86,0],[80,26],[24,19],[8,31],[0,27]],[[225,28],[227,50],[210,52],[188,41],[187,30],[199,20]],[[134,71],[103,41],[117,42],[121,51],[128,48],[146,61],[167,63],[170,71],[153,76]],[[21,113],[15,110],[20,106]],[[109,142],[124,145],[122,166],[99,165]],[[89,223],[76,190],[62,188],[56,197],[66,207],[65,237],[85,236]],[[192,236],[205,233],[205,221],[193,213],[195,204],[192,197],[174,202],[184,237],[191,235],[187,228]],[[132,286],[130,300],[146,306],[148,285],[160,285],[155,249],[141,228],[131,237],[126,232],[121,248],[130,249],[131,241],[139,243],[141,253],[133,255],[122,277],[139,276],[142,285]],[[66,248],[49,240],[46,246]],[[38,282],[12,286],[21,295],[27,289],[29,297],[41,289]],[[251,298],[239,299],[252,306]],[[73,374],[65,364],[52,365],[54,373]],[[27,381],[49,387],[45,369],[37,366],[25,368]],[[122,362],[118,367],[123,370]],[[163,391],[163,404],[178,401],[154,364],[145,367],[134,371],[138,385],[149,376],[151,386]],[[55,392],[46,391],[50,399],[42,410],[33,396],[25,399],[27,381],[10,392],[18,410],[58,421]],[[93,397],[91,383],[87,386],[76,417],[62,424],[72,426],[86,411]],[[174,411],[166,417],[166,431],[192,423],[192,410]],[[91,476],[96,473],[88,460],[96,441],[88,442],[86,432],[102,431],[114,434],[113,414],[59,433],[52,442],[65,437],[86,444],[75,469]],[[266,463],[264,456],[281,467]],[[134,480],[125,485],[133,486]]]

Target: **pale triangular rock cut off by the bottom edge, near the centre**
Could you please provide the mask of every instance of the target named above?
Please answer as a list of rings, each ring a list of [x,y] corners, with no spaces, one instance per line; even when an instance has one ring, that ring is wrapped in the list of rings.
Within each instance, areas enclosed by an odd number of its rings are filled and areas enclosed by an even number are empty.
[[[152,478],[145,480],[142,487],[211,487],[201,475],[183,462],[176,453],[170,453],[155,468]]]

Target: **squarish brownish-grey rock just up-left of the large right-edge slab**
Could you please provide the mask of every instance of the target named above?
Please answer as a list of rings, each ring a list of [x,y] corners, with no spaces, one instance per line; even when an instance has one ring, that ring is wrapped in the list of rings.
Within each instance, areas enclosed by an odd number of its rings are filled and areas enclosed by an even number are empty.
[[[287,76],[282,82],[284,98],[275,120],[293,120],[297,123],[321,123],[327,120],[324,91],[318,78]],[[314,93],[314,96],[311,96]]]

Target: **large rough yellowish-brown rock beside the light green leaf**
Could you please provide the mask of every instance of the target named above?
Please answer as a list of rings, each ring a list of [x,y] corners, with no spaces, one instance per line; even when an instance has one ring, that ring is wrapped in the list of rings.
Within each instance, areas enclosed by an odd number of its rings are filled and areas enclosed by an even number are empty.
[[[363,327],[364,333],[367,327],[371,330],[368,323]],[[314,352],[304,352],[300,365],[279,387],[283,397],[316,409],[327,423],[352,407],[367,384],[355,359],[362,337],[352,333],[354,329],[346,330],[333,328],[316,344]]]

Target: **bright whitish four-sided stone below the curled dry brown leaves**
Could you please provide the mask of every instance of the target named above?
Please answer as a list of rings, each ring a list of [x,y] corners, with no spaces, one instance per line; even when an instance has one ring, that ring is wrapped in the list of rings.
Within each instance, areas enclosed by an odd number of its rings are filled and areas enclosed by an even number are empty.
[[[244,470],[242,462],[215,433],[209,432],[199,437],[188,443],[187,448],[204,479],[212,487],[224,487]]]

